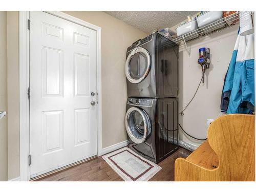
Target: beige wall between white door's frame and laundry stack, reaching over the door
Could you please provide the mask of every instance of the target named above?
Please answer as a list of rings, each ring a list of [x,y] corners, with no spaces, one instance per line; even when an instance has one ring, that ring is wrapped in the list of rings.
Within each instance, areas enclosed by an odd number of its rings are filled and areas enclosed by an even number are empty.
[[[102,28],[102,147],[126,140],[126,49],[147,34],[104,12],[65,11]]]

